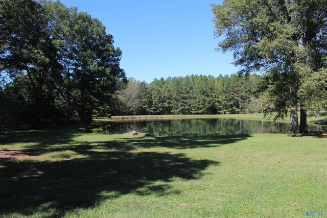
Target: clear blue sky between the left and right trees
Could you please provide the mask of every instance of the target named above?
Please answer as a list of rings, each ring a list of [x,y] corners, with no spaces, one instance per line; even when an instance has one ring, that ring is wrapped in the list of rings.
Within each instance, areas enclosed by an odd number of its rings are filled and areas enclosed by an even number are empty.
[[[231,74],[232,54],[216,52],[210,4],[221,0],[61,0],[98,18],[114,37],[127,77]]]

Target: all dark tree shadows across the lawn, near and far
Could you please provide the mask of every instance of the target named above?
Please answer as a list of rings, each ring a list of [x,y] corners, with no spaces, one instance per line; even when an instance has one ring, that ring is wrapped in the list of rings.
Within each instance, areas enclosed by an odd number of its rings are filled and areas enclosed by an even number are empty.
[[[35,145],[25,146],[25,151],[41,155],[68,149],[84,158],[68,159],[68,155],[65,160],[55,162],[0,159],[0,214],[37,213],[42,217],[56,217],[76,208],[95,207],[98,202],[127,193],[139,196],[179,193],[172,181],[176,178],[200,179],[206,167],[219,165],[219,162],[193,159],[182,153],[141,152],[137,149],[209,148],[250,137],[171,136],[74,141],[73,137],[78,135],[82,133],[67,129],[21,131],[5,138],[9,149],[14,141],[35,142]],[[62,147],[60,143],[66,146]]]

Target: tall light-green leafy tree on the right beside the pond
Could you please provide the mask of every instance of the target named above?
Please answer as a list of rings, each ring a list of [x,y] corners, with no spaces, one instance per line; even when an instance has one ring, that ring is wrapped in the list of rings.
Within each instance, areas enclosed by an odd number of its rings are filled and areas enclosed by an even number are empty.
[[[307,131],[303,83],[326,67],[325,0],[225,0],[212,5],[218,50],[232,51],[241,74],[264,72],[263,90],[275,118],[291,112],[290,132]],[[301,125],[298,128],[297,110]]]

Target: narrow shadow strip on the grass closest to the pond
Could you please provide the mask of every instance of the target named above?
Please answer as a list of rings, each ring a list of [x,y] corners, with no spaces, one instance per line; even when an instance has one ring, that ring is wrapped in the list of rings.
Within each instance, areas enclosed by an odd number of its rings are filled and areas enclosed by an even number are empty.
[[[251,137],[248,134],[242,135],[209,135],[209,136],[145,136],[145,137],[131,137],[123,138],[121,140],[108,140],[108,141],[93,141],[96,144],[91,149],[105,149],[116,151],[132,151],[135,149],[149,149],[149,148],[170,148],[170,149],[197,149],[197,148],[213,148],[219,147],[223,144],[233,143],[236,141],[244,140]],[[61,139],[60,139],[61,140]],[[55,141],[55,139],[53,139]],[[84,151],[87,151],[87,144],[71,143],[68,146],[61,147],[58,142],[54,144],[39,143],[33,146],[25,147],[26,152],[36,156],[49,152],[60,152],[71,150],[78,154],[88,155]]]

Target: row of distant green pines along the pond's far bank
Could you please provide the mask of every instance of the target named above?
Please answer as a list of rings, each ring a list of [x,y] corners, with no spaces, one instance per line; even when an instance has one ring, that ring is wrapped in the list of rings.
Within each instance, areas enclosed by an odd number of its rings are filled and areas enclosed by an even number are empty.
[[[116,115],[236,114],[263,112],[258,75],[169,77],[151,83],[131,78],[116,92]]]

